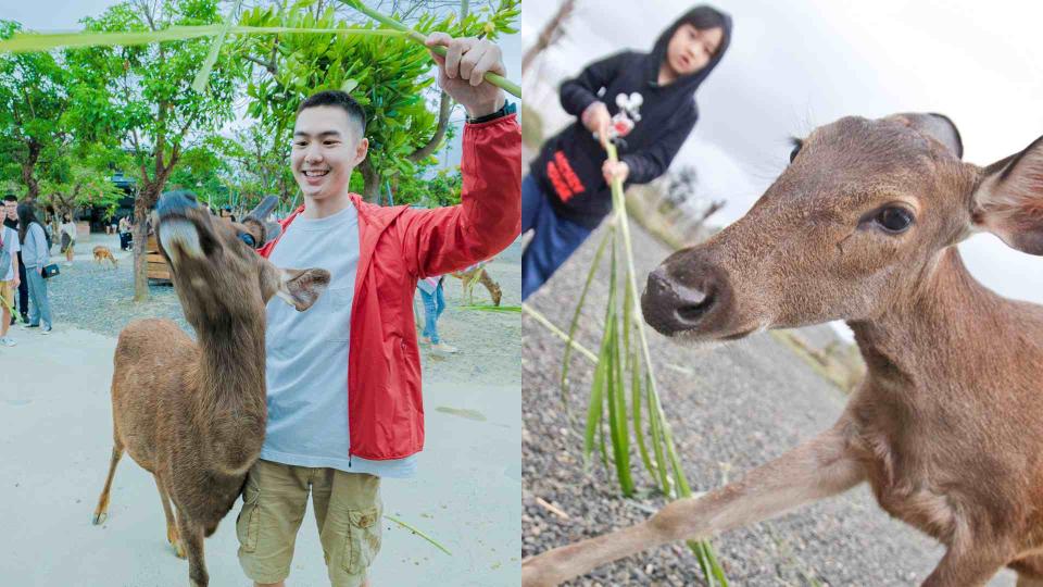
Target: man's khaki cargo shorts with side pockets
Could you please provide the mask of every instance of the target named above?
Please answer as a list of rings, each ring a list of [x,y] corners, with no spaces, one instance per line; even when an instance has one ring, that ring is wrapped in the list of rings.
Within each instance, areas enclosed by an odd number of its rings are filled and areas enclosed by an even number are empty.
[[[290,574],[309,489],[332,587],[359,587],[380,550],[380,477],[257,460],[236,520],[239,564],[256,583]]]

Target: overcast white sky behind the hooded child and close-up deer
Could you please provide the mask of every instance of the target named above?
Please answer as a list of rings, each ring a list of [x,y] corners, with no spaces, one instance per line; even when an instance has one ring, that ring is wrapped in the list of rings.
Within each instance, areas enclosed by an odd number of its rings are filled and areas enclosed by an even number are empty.
[[[844,115],[944,113],[960,129],[964,159],[979,165],[1043,135],[1043,2],[709,3],[732,15],[734,36],[699,91],[700,121],[675,164],[696,166],[701,189],[728,201],[715,216],[719,222],[742,216],[778,176],[791,149],[787,136]],[[525,0],[526,47],[557,4]],[[640,14],[632,2],[578,4],[568,37],[548,55],[548,66],[562,75],[624,48],[649,50],[695,2],[650,0]],[[527,98],[541,111],[556,108],[539,92]],[[960,251],[992,289],[1043,303],[1043,258],[1013,251],[991,235],[972,237]]]

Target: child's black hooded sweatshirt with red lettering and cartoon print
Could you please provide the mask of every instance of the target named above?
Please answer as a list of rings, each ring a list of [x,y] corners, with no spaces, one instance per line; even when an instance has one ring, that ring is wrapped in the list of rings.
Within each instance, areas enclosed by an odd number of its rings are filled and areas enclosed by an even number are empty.
[[[705,16],[706,11],[715,13],[721,23],[720,47],[702,70],[661,86],[659,67],[674,33],[682,24]],[[605,151],[578,120],[587,107],[601,100],[615,115],[619,111],[616,96],[641,95],[641,120],[617,150],[619,160],[630,167],[627,184],[646,184],[666,173],[695,126],[695,90],[717,66],[730,39],[731,17],[711,7],[698,7],[664,30],[651,53],[616,53],[588,65],[578,77],[562,84],[562,107],[577,121],[549,139],[530,166],[532,177],[558,216],[595,228],[612,211],[612,191],[601,172]]]

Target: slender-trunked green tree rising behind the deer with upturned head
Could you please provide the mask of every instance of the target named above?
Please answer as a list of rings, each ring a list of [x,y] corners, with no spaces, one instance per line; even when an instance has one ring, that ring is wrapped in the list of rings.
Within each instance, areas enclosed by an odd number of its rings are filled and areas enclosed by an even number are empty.
[[[84,20],[87,30],[161,30],[219,23],[217,0],[134,0]],[[191,89],[210,48],[204,39],[70,51],[77,77],[72,92],[81,133],[127,149],[137,180],[134,214],[134,299],[148,299],[147,217],[185,151],[233,116],[244,68],[227,52],[218,58],[206,91]]]

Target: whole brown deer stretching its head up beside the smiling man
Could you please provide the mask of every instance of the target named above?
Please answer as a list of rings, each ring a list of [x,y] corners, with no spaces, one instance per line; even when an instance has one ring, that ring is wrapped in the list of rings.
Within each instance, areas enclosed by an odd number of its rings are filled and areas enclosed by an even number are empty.
[[[236,224],[212,217],[189,192],[165,193],[153,224],[199,340],[169,320],[142,320],[116,344],[112,461],[93,523],[106,517],[126,450],[155,477],[167,539],[188,555],[193,586],[209,583],[203,537],[217,529],[261,453],[265,303],[278,296],[304,311],[329,284],[325,270],[280,270],[254,252],[278,235],[279,225],[264,220],[275,204],[269,197]]]

